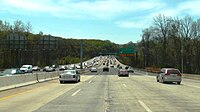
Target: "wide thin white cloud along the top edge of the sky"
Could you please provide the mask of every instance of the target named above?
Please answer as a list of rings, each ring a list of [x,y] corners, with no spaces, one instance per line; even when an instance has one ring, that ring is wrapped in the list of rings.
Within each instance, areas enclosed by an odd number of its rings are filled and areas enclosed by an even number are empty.
[[[13,13],[32,12],[56,17],[113,19],[126,13],[137,13],[163,5],[162,2],[155,1],[160,0],[3,0],[1,6]]]

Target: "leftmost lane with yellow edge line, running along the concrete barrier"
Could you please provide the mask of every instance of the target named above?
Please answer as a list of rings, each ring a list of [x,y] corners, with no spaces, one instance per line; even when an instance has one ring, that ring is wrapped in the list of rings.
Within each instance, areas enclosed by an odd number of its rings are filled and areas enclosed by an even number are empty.
[[[34,111],[76,86],[87,83],[92,77],[81,76],[80,83],[60,84],[58,80],[52,80],[0,92],[0,112]]]

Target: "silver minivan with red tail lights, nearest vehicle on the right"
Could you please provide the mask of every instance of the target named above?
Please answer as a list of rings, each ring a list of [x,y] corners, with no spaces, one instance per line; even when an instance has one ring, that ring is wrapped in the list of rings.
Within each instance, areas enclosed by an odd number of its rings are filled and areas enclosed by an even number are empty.
[[[176,82],[181,84],[182,75],[176,68],[162,68],[160,73],[156,76],[156,81],[161,83]]]

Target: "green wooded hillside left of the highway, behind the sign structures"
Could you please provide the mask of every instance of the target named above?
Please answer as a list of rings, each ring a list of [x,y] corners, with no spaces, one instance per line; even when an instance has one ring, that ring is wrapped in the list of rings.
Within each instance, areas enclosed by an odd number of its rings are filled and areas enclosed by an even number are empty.
[[[17,20],[11,25],[0,20],[0,68],[62,65],[80,62],[80,39],[33,34],[30,22]],[[83,39],[83,60],[118,52],[118,44],[108,40]]]

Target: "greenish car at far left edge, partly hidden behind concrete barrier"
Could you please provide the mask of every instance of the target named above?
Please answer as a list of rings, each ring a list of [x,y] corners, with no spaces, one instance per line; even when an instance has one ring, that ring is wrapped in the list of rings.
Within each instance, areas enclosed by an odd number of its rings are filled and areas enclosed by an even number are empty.
[[[0,76],[12,76],[17,74],[24,74],[19,68],[11,68],[5,69],[3,72],[0,73]]]

